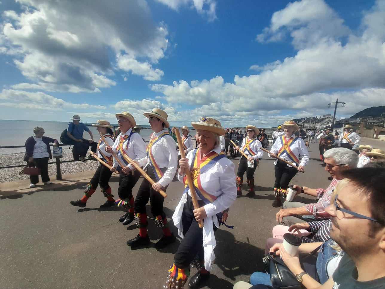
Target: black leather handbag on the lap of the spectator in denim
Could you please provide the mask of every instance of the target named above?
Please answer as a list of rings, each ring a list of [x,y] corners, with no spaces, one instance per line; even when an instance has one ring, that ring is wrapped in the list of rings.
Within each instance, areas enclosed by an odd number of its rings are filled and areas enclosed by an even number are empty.
[[[318,249],[320,249],[322,245],[318,246],[308,255],[303,256],[300,259],[301,267],[303,271],[308,273],[310,277],[315,279],[316,281],[320,281],[320,278],[317,274],[316,262],[318,256]],[[276,258],[275,258],[276,257]],[[286,266],[285,262],[278,256],[275,255],[274,252],[271,252],[268,255],[268,262],[266,264],[269,274],[270,281],[273,285],[273,288],[276,289],[302,289],[303,285],[298,282],[296,276],[290,271],[290,269]]]

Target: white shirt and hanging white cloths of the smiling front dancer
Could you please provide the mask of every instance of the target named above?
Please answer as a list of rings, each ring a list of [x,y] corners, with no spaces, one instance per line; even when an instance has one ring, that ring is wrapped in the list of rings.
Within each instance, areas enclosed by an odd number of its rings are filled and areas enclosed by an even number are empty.
[[[214,148],[216,153],[220,153],[219,147]],[[189,165],[192,163],[192,156],[194,150],[190,151],[186,158],[189,160]],[[199,153],[199,152],[198,152]],[[197,156],[200,157],[200,156]],[[183,176],[178,175],[178,179],[183,182]],[[233,204],[236,195],[235,185],[235,173],[234,164],[228,158],[221,158],[211,168],[200,175],[201,185],[203,190],[208,192],[210,195],[218,197],[214,202],[208,203],[203,206],[206,212],[207,218],[203,220],[203,248],[204,248],[204,267],[210,271],[215,260],[214,248],[216,246],[216,240],[214,236],[213,223],[218,228],[217,213],[226,210]],[[190,190],[187,192],[191,196]],[[200,200],[197,195],[198,200]],[[183,238],[182,228],[182,213],[184,203],[187,201],[187,194],[183,194],[181,200],[175,208],[172,220],[174,221],[175,227],[178,229],[178,235]]]

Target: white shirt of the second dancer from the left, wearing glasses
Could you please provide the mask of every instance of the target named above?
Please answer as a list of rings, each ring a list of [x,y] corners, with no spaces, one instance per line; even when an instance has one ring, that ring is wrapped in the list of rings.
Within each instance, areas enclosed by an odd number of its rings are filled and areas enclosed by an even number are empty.
[[[132,128],[130,128],[128,131],[126,131],[125,134],[121,132],[117,138],[115,139],[114,146],[112,147],[112,150],[114,151],[115,155],[119,158],[119,161],[121,161],[122,164],[126,164],[127,161],[125,158],[123,158],[120,154],[117,154],[117,148],[119,147],[119,141],[121,139],[121,136],[129,136],[132,131]],[[128,146],[127,142],[123,143],[123,150],[127,153],[127,155],[135,161],[139,161],[140,159],[147,156],[146,154],[146,144],[144,143],[142,137],[139,133],[133,133],[131,135],[131,138],[129,140]],[[114,158],[114,167],[117,168],[118,162]],[[129,165],[128,166],[131,170],[134,169],[134,166]]]

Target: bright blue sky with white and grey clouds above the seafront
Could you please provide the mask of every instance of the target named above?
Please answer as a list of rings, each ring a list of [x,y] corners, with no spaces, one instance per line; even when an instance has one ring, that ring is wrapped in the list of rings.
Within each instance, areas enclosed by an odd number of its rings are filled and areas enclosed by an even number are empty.
[[[0,118],[171,126],[385,105],[385,0],[0,0]]]

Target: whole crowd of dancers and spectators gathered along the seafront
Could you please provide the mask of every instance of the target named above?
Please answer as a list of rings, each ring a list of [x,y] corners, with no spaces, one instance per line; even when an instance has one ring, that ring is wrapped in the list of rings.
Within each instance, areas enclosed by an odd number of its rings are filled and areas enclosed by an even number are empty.
[[[319,137],[320,160],[330,174],[330,185],[327,188],[300,185],[289,188],[291,179],[297,173],[304,173],[309,161],[305,141],[306,138],[310,140],[309,134],[295,121],[286,121],[279,126],[273,134],[273,146],[267,151],[268,143],[264,146],[264,139],[268,138],[263,129],[249,124],[243,134],[238,129],[224,129],[217,119],[201,117],[191,123],[196,130],[195,149],[188,127],[180,128],[183,147],[179,147],[178,156],[177,128],[170,128],[168,115],[162,109],[144,112],[153,131],[147,146],[136,131],[138,126],[130,113],[122,112],[115,116],[119,134],[115,134],[108,121],[98,120],[93,124],[102,136],[96,145],[92,133],[89,132],[90,140],[84,140],[80,135],[80,117],[72,118],[74,125],[69,124],[67,136],[74,144],[79,143],[74,151],[80,159],[85,158],[85,145],[87,149],[91,146],[91,157],[99,160],[100,165],[84,190],[84,196],[70,201],[70,204],[85,207],[99,185],[107,198],[100,207],[122,206],[126,213],[118,218],[119,222],[123,225],[136,223],[139,234],[127,240],[127,245],[136,250],[146,248],[150,243],[146,210],[150,202],[151,218],[162,230],[162,237],[155,247],[161,249],[176,240],[169,228],[170,221],[163,203],[169,183],[175,177],[181,181],[185,189],[172,215],[172,222],[182,240],[168,270],[165,288],[182,288],[186,283],[189,288],[199,288],[208,281],[215,260],[215,232],[225,224],[229,207],[237,195],[242,195],[245,173],[249,186],[246,196],[254,196],[254,172],[264,152],[275,159],[272,191],[276,200],[272,205],[283,206],[276,213],[279,225],[273,228],[272,237],[266,240],[265,254],[275,256],[275,259],[266,260],[281,259],[291,271],[291,281],[297,282],[298,288],[383,287],[385,152],[370,145],[356,146],[360,138],[350,131],[350,127],[340,136],[339,147],[332,147],[335,138],[331,127],[327,127]],[[44,137],[41,127],[35,127],[33,132],[35,135],[26,142],[25,161],[40,168],[42,181],[48,185],[51,182],[47,165],[52,158],[49,144],[56,144],[57,140]],[[232,151],[241,154],[236,173],[234,163],[226,156],[230,144]],[[181,151],[186,157],[182,157]],[[109,186],[112,173],[119,173],[117,200]],[[135,195],[133,188],[141,175],[145,178]],[[31,186],[38,182],[38,176],[31,176]],[[296,202],[289,200],[289,193],[304,193],[318,198],[318,201],[310,204]],[[298,240],[290,243],[287,240],[293,238],[288,235]],[[288,242],[298,250],[294,253],[289,250]],[[300,254],[309,253],[316,255],[316,261],[310,264],[313,271],[308,269],[308,263],[306,268],[301,263]],[[191,267],[197,272],[190,277]],[[234,288],[285,287],[282,283],[285,280],[280,277],[281,285],[276,285],[276,274],[269,272],[269,266],[266,268],[267,272],[252,274],[250,283],[238,282]]]

